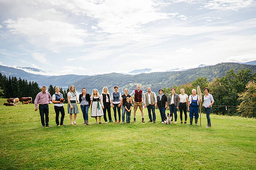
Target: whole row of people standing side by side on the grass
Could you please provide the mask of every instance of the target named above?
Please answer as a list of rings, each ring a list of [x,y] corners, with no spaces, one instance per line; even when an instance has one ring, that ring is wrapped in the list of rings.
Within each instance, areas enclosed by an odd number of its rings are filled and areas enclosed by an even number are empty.
[[[171,89],[171,94],[168,97],[164,94],[163,89],[160,89],[159,94],[156,95],[155,92],[151,91],[151,88],[147,88],[147,92],[144,93],[141,90],[141,85],[137,85],[137,89],[133,90],[131,94],[128,94],[128,89],[124,89],[124,94],[121,95],[118,92],[118,86],[114,86],[114,92],[111,94],[107,87],[103,87],[101,94],[99,94],[97,89],[93,89],[91,97],[90,94],[86,92],[86,89],[82,89],[82,94],[79,95],[78,99],[80,102],[80,108],[83,113],[84,123],[89,125],[88,122],[88,110],[91,107],[91,117],[95,118],[96,124],[102,124],[101,116],[104,117],[105,123],[108,123],[107,115],[109,122],[113,122],[111,117],[111,107],[114,111],[115,123],[117,123],[117,113],[118,113],[118,123],[121,123],[121,109],[122,109],[122,123],[131,123],[131,109],[133,107],[133,122],[136,122],[136,111],[139,107],[141,111],[141,122],[145,123],[144,120],[144,112],[143,112],[143,104],[144,107],[147,107],[149,122],[156,123],[156,114],[155,109],[159,108],[161,115],[161,122],[164,123],[165,120],[165,110],[168,108],[170,110],[171,115],[174,114],[174,123],[177,123],[177,109],[180,110],[180,120],[181,124],[183,123],[183,112],[184,112],[184,124],[187,123],[187,110],[189,110],[189,125],[192,125],[193,118],[195,118],[195,125],[197,124],[197,120],[199,117],[198,108],[199,103],[202,102],[202,99],[196,94],[196,90],[192,90],[192,95],[188,96],[185,94],[184,89],[181,89],[181,94],[176,94],[175,88]],[[56,125],[57,126],[65,126],[63,123],[65,111],[64,111],[64,99],[63,95],[59,92],[60,88],[55,87],[56,93],[51,95],[46,92],[46,86],[42,87],[42,92],[37,94],[35,98],[35,111],[37,111],[37,105],[39,104],[39,112],[42,127],[45,126],[51,127],[49,125],[49,107],[48,103],[52,100],[54,104],[54,110],[56,112]],[[205,96],[203,107],[205,108],[206,117],[207,117],[207,128],[211,127],[211,107],[214,103],[213,97],[209,94],[209,89],[206,87],[204,89]],[[134,97],[133,97],[134,95]],[[77,92],[75,91],[75,86],[70,86],[69,92],[67,94],[67,112],[69,114],[69,118],[71,121],[71,125],[76,124],[77,113],[79,113],[77,107]],[[132,105],[132,102],[134,105]],[[61,112],[61,121],[59,122],[59,113]],[[151,114],[152,112],[152,114]],[[108,113],[108,114],[107,114]],[[126,119],[125,119],[126,114]],[[72,118],[74,115],[74,118]],[[45,118],[44,118],[45,117]],[[171,123],[173,118],[171,119]]]

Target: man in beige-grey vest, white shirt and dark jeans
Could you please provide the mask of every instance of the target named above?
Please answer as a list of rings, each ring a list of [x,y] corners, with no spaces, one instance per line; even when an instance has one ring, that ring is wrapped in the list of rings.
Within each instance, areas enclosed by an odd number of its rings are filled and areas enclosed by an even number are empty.
[[[149,122],[155,123],[155,107],[157,107],[157,97],[154,92],[151,92],[151,88],[147,88],[147,93],[145,93],[145,101],[144,101],[144,107],[149,112]],[[151,110],[153,114],[153,119],[151,115]]]

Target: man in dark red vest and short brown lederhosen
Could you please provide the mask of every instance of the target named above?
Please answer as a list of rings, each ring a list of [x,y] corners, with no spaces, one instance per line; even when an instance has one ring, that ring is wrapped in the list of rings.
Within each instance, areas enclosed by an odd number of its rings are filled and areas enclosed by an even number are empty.
[[[133,96],[133,94],[134,94],[134,99],[133,99],[133,103],[134,103],[133,122],[136,122],[136,111],[139,107],[139,110],[141,110],[141,118],[142,118],[141,122],[145,123],[144,113],[143,113],[143,102],[144,102],[145,94],[141,90],[141,85],[140,84],[137,85],[137,90],[134,90],[133,92],[131,92],[130,95]]]

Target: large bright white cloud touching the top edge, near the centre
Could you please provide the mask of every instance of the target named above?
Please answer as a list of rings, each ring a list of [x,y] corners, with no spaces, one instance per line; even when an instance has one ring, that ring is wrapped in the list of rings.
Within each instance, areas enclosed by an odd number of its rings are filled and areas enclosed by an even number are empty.
[[[51,0],[58,8],[64,8],[77,15],[97,19],[98,27],[108,33],[136,31],[141,24],[169,18],[168,13],[158,12],[152,0]]]

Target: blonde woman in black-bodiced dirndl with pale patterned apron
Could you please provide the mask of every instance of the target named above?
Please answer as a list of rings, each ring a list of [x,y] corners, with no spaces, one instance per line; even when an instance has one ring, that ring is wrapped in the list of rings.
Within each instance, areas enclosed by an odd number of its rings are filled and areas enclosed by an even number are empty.
[[[99,124],[101,124],[101,116],[103,116],[103,110],[101,106],[101,99],[97,89],[93,89],[91,95],[91,117],[95,118],[97,124],[97,117],[99,117]]]

